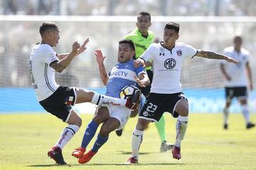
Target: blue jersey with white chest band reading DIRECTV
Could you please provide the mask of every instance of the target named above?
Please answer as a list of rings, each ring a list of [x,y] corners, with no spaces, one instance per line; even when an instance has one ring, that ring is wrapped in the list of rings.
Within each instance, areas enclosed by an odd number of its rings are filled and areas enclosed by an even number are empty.
[[[111,96],[114,98],[119,98],[119,94],[124,86],[134,85],[137,82],[134,76],[139,76],[139,74],[146,73],[142,66],[134,68],[134,60],[129,60],[125,63],[117,63],[108,74],[109,80],[107,82],[106,96]]]

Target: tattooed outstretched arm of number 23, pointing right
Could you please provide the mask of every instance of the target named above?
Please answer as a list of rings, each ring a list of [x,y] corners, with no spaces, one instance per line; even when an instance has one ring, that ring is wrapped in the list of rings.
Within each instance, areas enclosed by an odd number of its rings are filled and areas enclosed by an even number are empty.
[[[208,59],[218,59],[218,60],[226,60],[227,62],[233,62],[234,64],[238,64],[238,60],[235,60],[231,57],[225,56],[225,55],[220,55],[217,52],[212,52],[212,51],[206,51],[206,50],[198,50],[196,53],[196,56],[198,57],[205,57]]]

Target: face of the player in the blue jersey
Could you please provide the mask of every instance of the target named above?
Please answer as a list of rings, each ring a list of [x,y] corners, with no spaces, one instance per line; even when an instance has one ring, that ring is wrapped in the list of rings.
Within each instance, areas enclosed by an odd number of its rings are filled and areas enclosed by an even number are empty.
[[[119,45],[118,49],[118,62],[129,62],[132,60],[134,51],[131,50],[129,44],[122,43]]]

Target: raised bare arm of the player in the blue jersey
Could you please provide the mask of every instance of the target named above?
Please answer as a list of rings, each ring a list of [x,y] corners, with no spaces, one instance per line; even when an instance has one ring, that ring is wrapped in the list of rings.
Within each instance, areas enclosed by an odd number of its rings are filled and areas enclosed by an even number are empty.
[[[102,79],[103,84],[106,86],[107,81],[109,79],[109,77],[107,76],[107,71],[105,69],[105,65],[104,65],[104,60],[106,57],[103,57],[101,50],[95,51],[95,57],[96,57],[96,61],[97,61],[98,67],[99,67],[99,71],[100,71],[100,78]]]

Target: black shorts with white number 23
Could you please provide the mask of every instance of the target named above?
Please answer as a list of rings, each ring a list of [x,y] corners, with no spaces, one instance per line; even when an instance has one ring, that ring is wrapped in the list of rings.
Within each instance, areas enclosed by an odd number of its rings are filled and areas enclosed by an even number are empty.
[[[150,93],[139,113],[139,118],[146,120],[159,121],[164,112],[169,112],[174,118],[178,117],[175,111],[176,103],[180,100],[186,100],[182,92],[176,94],[154,94]]]

